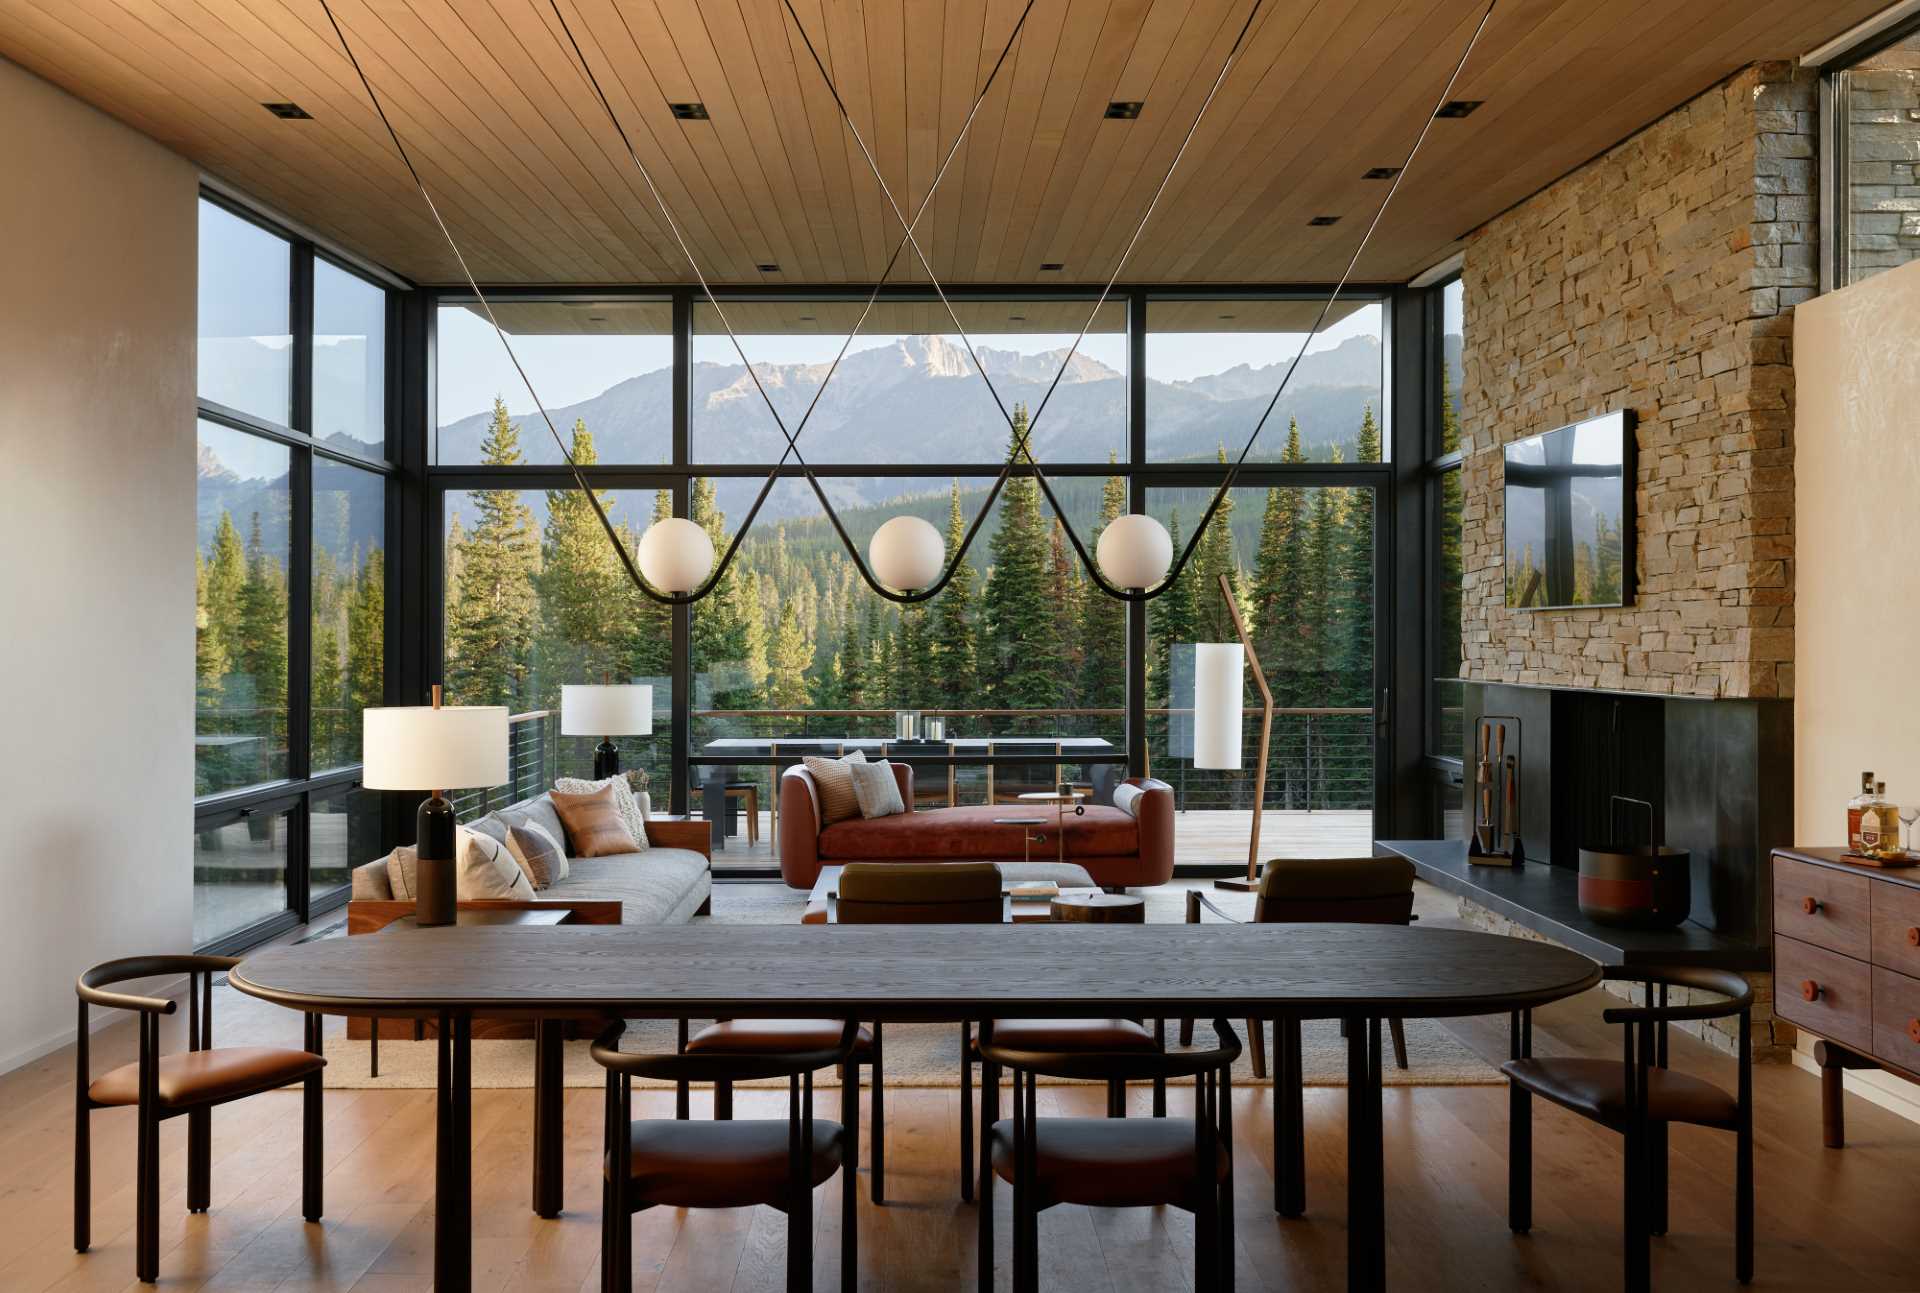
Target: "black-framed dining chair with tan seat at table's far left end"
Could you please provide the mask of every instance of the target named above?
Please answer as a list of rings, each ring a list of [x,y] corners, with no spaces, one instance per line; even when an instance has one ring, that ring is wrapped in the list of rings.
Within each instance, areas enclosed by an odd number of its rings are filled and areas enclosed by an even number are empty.
[[[238,957],[125,957],[81,974],[75,1039],[73,1118],[73,1249],[92,1243],[92,1139],[98,1109],[134,1107],[134,1276],[159,1280],[159,1124],[186,1116],[186,1210],[205,1212],[213,1180],[213,1107],[305,1084],[301,1114],[301,1214],[321,1220],[321,1016],[305,1016],[305,1049],[213,1047],[213,976],[240,964]],[[159,1053],[159,1016],[179,1005],[171,997],[108,991],[134,978],[186,974],[186,1051]],[[90,1074],[88,1007],[132,1011],[140,1026],[140,1059]]]

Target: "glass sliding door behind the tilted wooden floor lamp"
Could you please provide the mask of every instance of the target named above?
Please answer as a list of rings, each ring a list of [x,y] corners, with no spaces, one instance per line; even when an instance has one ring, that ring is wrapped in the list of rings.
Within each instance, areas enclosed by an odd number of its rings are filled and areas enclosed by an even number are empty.
[[[1175,786],[1183,863],[1244,863],[1261,795],[1263,857],[1354,857],[1373,843],[1379,534],[1371,484],[1240,476],[1171,592],[1146,611],[1146,744]],[[1213,488],[1148,486],[1146,511],[1192,536]],[[1233,605],[1273,690],[1265,786],[1260,692],[1246,671],[1242,765],[1194,767],[1194,644],[1238,642]]]

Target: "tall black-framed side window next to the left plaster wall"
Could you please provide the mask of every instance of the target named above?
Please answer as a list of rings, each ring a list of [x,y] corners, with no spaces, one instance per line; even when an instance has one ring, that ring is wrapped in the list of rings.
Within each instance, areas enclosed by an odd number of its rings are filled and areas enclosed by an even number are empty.
[[[380,834],[355,772],[361,709],[386,688],[388,317],[382,284],[202,200],[200,947],[340,901],[371,857],[344,822]]]

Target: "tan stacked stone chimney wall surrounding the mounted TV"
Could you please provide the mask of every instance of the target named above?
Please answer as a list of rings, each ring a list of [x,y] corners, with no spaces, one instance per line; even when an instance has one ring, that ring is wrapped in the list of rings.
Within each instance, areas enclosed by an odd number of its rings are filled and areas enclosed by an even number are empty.
[[[1473,236],[1461,674],[1793,694],[1791,311],[1816,273],[1812,77],[1736,73]],[[1640,419],[1634,605],[1509,611],[1501,446]]]

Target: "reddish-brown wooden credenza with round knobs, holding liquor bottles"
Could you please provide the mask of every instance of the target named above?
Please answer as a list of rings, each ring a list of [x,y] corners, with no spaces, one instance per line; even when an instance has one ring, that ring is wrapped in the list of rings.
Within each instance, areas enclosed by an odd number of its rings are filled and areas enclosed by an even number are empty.
[[[1818,1041],[1826,1143],[1845,1143],[1841,1074],[1920,1082],[1920,866],[1774,849],[1774,1014]]]

